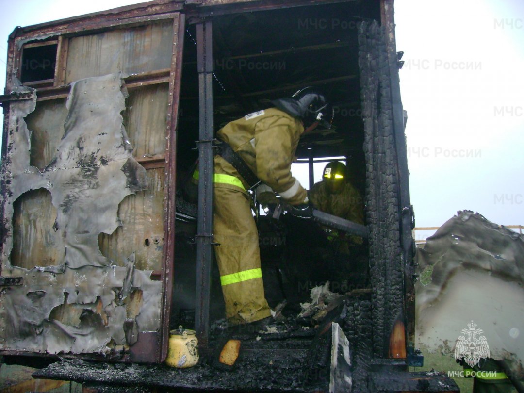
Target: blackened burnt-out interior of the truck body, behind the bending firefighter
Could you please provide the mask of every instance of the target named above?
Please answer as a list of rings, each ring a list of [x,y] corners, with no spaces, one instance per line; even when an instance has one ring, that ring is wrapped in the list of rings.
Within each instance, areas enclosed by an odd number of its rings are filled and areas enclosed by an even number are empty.
[[[296,162],[300,164],[292,170],[296,168],[307,174],[313,162],[323,167],[329,158],[337,157],[351,167],[352,182],[365,195],[356,26],[358,21],[378,15],[376,6],[325,5],[321,16],[319,6],[309,6],[213,18],[215,131],[247,113],[271,106],[269,101],[272,99],[290,96],[304,86],[317,86],[333,101],[334,126],[331,130],[316,130],[313,135],[301,139],[296,152]],[[340,15],[354,16],[342,20]],[[184,183],[191,177],[193,163],[198,159],[198,144],[195,143],[199,140],[196,36],[196,26],[189,25],[184,36],[177,145],[178,195],[182,200]],[[304,187],[311,188],[313,182],[320,180],[318,169],[316,178],[311,170],[310,177],[305,179]],[[310,290],[326,281],[332,283],[331,290],[340,293],[368,288],[367,244],[353,247],[352,255],[336,255],[328,234],[318,223],[290,215],[282,215],[276,220],[271,214],[262,213],[257,216],[257,224],[266,297],[272,307],[286,299],[287,309],[298,313],[299,302],[308,301]],[[173,296],[171,318],[176,326],[194,323],[194,257],[188,258],[187,253],[191,250],[196,253],[195,233],[196,223],[177,225],[176,248],[180,254],[175,256],[175,265],[192,273],[186,277],[177,275],[174,279],[175,290],[182,294],[182,297]],[[212,277],[211,320],[223,318],[215,264]],[[180,320],[177,320],[178,312]],[[189,321],[185,320],[187,318]]]

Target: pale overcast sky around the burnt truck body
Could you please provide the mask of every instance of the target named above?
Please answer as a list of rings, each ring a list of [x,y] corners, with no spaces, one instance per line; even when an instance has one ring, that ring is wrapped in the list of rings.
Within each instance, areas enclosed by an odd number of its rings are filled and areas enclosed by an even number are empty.
[[[15,26],[134,3],[2,2],[0,85]],[[463,209],[524,225],[524,2],[396,0],[395,9],[416,225]]]

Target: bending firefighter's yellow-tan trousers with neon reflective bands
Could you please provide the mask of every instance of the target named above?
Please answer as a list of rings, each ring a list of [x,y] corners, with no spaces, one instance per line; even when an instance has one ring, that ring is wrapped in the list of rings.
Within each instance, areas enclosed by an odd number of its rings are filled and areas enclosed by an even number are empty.
[[[226,318],[231,324],[258,321],[270,315],[260,269],[258,231],[250,200],[236,171],[215,157],[214,241]]]

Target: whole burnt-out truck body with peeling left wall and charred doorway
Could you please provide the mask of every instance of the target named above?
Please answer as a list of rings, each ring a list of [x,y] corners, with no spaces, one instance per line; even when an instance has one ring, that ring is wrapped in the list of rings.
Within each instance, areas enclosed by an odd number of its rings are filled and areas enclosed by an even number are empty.
[[[337,318],[354,391],[380,391],[373,373],[383,367],[405,372],[413,359],[414,220],[400,57],[392,0],[157,0],[15,29],[1,97],[4,362],[60,357],[122,364],[120,371],[148,364],[141,376],[139,368],[126,378],[112,369],[104,383],[233,389],[202,360],[212,357],[223,316],[213,261],[214,133],[312,85],[334,103],[334,129],[302,138],[297,165],[307,168],[307,188],[315,163],[337,157],[351,167],[366,236],[341,257],[318,223],[254,213],[267,298],[271,307],[286,300],[292,312],[329,281],[343,299]],[[193,204],[182,189],[196,159]],[[185,377],[160,365],[179,324],[196,330],[201,350],[202,365]],[[293,353],[298,364],[287,359],[288,370],[310,375],[301,362],[328,325],[246,342],[246,353],[266,366],[267,354]],[[41,376],[96,383],[99,373],[74,367],[51,365]],[[246,389],[270,390],[258,374]],[[401,390],[411,386],[406,375]],[[316,377],[305,379],[333,383]],[[274,378],[277,390],[311,388]]]

